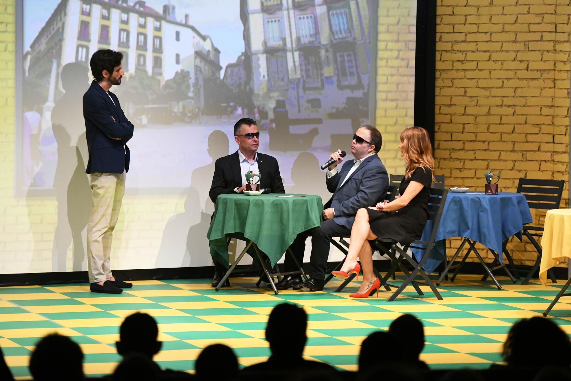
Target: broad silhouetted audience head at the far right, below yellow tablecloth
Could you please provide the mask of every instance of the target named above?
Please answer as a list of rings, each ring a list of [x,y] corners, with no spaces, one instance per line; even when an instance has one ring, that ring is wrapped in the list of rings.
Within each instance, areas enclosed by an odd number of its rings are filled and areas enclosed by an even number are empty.
[[[521,319],[509,330],[502,357],[513,367],[569,367],[571,343],[567,334],[550,319],[538,316]]]

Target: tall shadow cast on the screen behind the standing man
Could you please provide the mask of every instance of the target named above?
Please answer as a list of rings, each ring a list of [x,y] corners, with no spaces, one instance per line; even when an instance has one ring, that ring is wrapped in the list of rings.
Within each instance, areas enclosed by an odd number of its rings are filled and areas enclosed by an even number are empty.
[[[58,222],[52,248],[52,271],[67,271],[67,249],[73,243],[73,271],[81,271],[86,260],[82,232],[91,212],[91,191],[85,174],[87,141],[83,121],[83,94],[89,88],[87,66],[67,63],[62,68],[62,98],[51,112],[51,124],[58,143],[54,189]]]

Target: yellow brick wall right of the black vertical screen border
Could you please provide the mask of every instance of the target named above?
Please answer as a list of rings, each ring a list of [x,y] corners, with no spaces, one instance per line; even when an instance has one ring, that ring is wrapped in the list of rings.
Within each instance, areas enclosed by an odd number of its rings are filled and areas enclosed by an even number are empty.
[[[437,0],[435,158],[447,185],[482,190],[488,170],[508,192],[520,177],[565,180],[568,207],[569,5]],[[526,239],[508,249],[522,264],[537,255]]]

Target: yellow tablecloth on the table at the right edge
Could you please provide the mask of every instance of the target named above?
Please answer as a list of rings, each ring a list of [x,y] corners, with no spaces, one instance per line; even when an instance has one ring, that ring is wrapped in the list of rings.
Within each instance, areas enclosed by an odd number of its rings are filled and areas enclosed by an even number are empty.
[[[541,247],[539,279],[547,285],[547,271],[564,257],[571,258],[571,209],[547,211]]]

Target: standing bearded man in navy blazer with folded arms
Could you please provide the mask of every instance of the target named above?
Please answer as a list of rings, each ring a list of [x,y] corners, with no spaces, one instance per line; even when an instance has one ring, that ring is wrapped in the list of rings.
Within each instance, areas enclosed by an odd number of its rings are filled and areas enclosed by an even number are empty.
[[[119,99],[109,89],[120,85],[124,72],[123,54],[114,50],[96,51],[89,65],[94,81],[83,96],[83,117],[87,137],[93,209],[87,222],[87,268],[92,292],[120,293],[132,287],[111,273],[111,240],[119,218],[129,170],[127,141],[133,125],[125,117]]]

